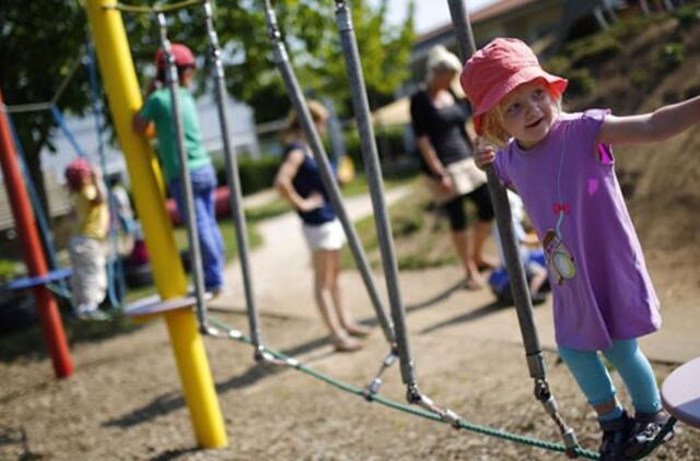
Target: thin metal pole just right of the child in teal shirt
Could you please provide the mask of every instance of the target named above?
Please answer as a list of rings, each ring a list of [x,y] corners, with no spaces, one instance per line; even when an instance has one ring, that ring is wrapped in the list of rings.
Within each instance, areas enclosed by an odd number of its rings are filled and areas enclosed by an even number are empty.
[[[221,47],[219,36],[213,25],[211,2],[205,2],[205,15],[207,19],[207,32],[209,35],[209,54],[213,62],[214,88],[217,98],[217,109],[219,110],[219,126],[223,140],[224,158],[226,159],[226,179],[230,188],[231,213],[235,224],[236,244],[238,245],[238,259],[241,261],[241,272],[243,274],[243,288],[245,292],[245,303],[248,312],[248,326],[250,329],[250,340],[255,346],[256,358],[260,357],[261,339],[258,319],[258,309],[253,289],[253,276],[250,272],[250,261],[248,259],[248,232],[246,228],[245,214],[243,212],[243,194],[241,192],[241,179],[235,149],[231,142],[231,131],[229,129],[229,115],[226,113],[225,96],[226,87],[224,80],[223,63],[221,61]]]

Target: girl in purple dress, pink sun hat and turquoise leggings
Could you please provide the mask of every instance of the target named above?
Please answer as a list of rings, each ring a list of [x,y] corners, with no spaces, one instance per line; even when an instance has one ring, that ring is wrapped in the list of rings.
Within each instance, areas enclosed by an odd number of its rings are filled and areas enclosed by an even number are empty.
[[[616,117],[607,109],[561,111],[567,80],[545,72],[533,51],[497,38],[460,76],[478,134],[497,143],[477,164],[492,164],[517,190],[545,246],[557,343],[603,429],[600,457],[646,449],[668,415],[637,338],[661,326],[658,299],[615,176],[611,144],[662,141],[700,121],[696,97],[653,114]],[[631,418],[598,351],[620,374]],[[673,435],[673,434],[672,434]]]

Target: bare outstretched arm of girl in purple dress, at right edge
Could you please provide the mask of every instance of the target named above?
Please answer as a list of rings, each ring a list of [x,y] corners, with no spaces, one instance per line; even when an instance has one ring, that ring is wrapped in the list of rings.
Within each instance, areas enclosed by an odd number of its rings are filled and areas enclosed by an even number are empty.
[[[651,114],[605,117],[597,142],[640,144],[663,141],[700,122],[700,96],[661,107]]]

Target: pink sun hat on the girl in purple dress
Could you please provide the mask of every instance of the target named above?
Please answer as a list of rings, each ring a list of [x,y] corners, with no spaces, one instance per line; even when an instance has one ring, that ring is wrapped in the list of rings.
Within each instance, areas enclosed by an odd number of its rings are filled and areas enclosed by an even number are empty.
[[[545,79],[561,96],[569,81],[545,72],[537,56],[517,38],[495,38],[465,63],[459,83],[474,106],[474,127],[481,131],[481,117],[523,83]]]

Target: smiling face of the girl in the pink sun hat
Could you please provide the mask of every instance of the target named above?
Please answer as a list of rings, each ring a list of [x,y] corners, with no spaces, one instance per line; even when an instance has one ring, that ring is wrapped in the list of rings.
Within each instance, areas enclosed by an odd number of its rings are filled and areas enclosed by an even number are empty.
[[[524,83],[500,104],[503,128],[523,149],[537,145],[549,133],[557,110],[546,82]]]

